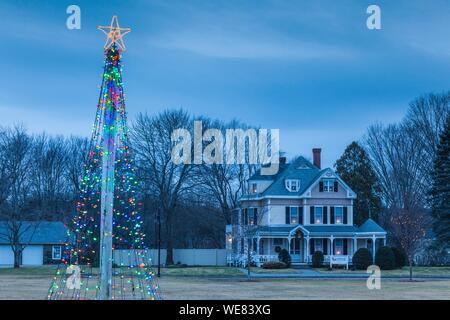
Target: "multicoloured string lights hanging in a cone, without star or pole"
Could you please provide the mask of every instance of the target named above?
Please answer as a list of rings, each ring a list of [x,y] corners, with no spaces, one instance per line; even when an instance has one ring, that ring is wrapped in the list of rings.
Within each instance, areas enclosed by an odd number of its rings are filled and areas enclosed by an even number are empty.
[[[107,144],[114,146],[113,178],[102,176],[102,159],[111,152],[104,150],[105,139],[110,139]],[[53,278],[49,299],[98,298],[101,188],[104,183],[110,184],[114,190],[114,200],[104,204],[113,207],[113,251],[125,250],[128,260],[125,263],[121,254],[113,254],[112,298],[160,299],[158,284],[146,256],[143,221],[139,203],[136,202],[138,181],[135,177],[126,125],[121,50],[113,44],[105,50],[102,86],[88,161],[81,180],[81,193],[73,223],[68,228],[69,241],[63,250],[62,266],[58,267]],[[67,288],[68,275],[63,270],[69,265],[81,267],[82,281],[78,290]],[[92,279],[96,279],[94,284]]]

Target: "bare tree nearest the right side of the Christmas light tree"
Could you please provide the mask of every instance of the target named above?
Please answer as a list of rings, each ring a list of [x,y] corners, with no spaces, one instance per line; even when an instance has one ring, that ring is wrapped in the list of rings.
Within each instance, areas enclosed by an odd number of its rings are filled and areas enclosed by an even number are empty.
[[[132,129],[133,147],[141,179],[146,192],[154,193],[159,199],[161,218],[166,233],[166,264],[173,264],[173,224],[176,209],[183,197],[197,185],[195,166],[172,162],[172,133],[175,129],[189,128],[189,115],[182,111],[164,111],[150,117],[139,114]]]

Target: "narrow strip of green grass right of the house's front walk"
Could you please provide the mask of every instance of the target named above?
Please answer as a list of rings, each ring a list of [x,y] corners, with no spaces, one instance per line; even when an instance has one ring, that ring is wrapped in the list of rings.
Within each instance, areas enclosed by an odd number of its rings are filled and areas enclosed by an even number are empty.
[[[328,270],[327,268],[314,269],[320,273],[333,273],[333,274],[348,274],[348,273],[361,273],[366,274],[365,270],[345,270],[342,268],[334,268]],[[403,267],[402,269],[395,270],[381,270],[381,276],[409,276],[409,267]],[[413,267],[413,277],[419,276],[449,276],[450,267]]]

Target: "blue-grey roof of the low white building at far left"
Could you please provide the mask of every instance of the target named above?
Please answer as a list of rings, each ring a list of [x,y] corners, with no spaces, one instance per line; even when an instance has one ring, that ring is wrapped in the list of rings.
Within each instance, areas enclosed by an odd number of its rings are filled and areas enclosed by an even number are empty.
[[[37,227],[33,224],[37,224]],[[36,223],[23,221],[21,230],[24,232],[20,240],[24,244],[63,244],[68,239],[67,228],[62,222],[41,221]],[[8,234],[7,222],[0,221],[0,244],[9,244]]]

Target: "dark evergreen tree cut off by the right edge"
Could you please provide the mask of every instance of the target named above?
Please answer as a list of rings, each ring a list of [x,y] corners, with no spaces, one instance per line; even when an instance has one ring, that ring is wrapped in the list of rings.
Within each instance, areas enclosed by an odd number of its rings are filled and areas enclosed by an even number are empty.
[[[434,218],[433,231],[438,243],[450,245],[450,113],[440,136],[434,160],[430,204]]]

